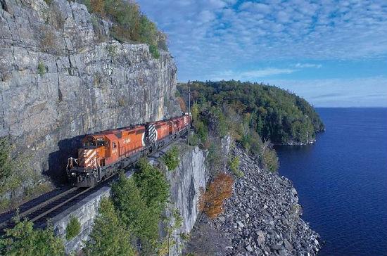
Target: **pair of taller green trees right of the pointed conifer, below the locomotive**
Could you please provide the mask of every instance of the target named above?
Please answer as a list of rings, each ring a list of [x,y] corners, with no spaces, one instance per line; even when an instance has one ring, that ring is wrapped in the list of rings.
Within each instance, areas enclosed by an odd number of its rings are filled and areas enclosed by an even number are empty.
[[[160,169],[143,158],[133,177],[120,174],[112,186],[112,200],[122,222],[141,241],[141,252],[154,253],[158,224],[169,197],[169,185]]]

